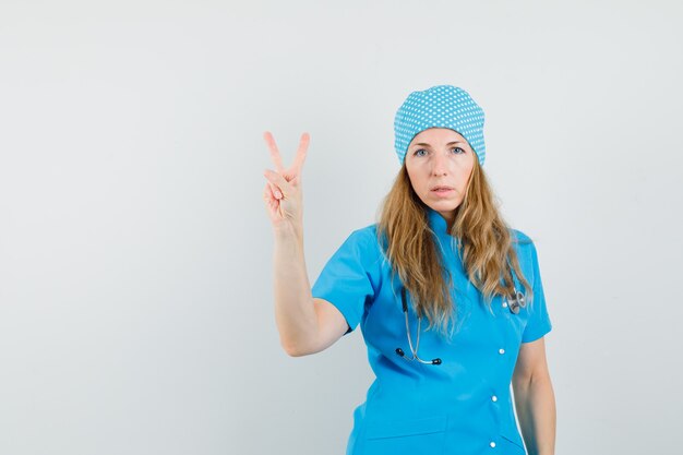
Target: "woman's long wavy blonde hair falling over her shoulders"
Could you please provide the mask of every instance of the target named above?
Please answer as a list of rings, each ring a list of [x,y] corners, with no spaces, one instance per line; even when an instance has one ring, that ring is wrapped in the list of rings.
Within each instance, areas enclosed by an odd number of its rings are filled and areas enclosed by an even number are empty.
[[[477,159],[450,235],[459,239],[457,248],[464,270],[483,295],[489,309],[496,295],[513,294],[508,260],[525,288],[527,301],[532,299],[531,286],[522,274],[511,232],[493,202]],[[391,263],[393,276],[398,275],[410,292],[417,314],[428,319],[428,328],[435,327],[444,335],[452,333],[457,314],[457,302],[453,301],[451,292],[453,277],[434,241],[428,206],[412,189],[405,163],[382,203],[378,240]]]

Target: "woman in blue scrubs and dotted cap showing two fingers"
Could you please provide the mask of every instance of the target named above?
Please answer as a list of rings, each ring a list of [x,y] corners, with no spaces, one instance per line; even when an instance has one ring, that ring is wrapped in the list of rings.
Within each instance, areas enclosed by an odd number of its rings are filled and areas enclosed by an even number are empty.
[[[305,356],[360,325],[376,375],[354,412],[348,455],[554,453],[538,256],[494,205],[483,118],[459,87],[411,93],[396,112],[400,169],[379,223],[350,234],[312,288],[301,196],[309,135],[285,169],[264,134],[276,168],[264,172],[264,201],[281,345]]]

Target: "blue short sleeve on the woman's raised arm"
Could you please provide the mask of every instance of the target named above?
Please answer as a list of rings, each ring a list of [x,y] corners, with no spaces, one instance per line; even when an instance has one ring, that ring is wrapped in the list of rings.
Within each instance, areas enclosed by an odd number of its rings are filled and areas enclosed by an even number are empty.
[[[360,323],[366,306],[372,303],[379,280],[379,243],[374,229],[354,231],[327,261],[311,290],[344,315],[347,334]]]

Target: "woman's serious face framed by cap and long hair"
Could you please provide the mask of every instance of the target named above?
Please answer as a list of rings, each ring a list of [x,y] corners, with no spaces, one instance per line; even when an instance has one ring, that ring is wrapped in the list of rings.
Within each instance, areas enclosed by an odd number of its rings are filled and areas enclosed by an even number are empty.
[[[412,189],[446,219],[448,227],[465,199],[475,159],[477,155],[465,137],[446,128],[424,130],[408,145],[406,169]]]

